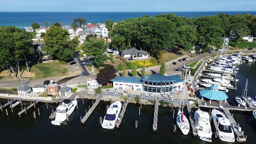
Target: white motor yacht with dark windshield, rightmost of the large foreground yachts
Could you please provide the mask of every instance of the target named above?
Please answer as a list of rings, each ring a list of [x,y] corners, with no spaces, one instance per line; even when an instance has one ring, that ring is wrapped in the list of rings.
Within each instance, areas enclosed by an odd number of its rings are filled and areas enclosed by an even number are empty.
[[[212,110],[212,121],[220,140],[224,142],[235,142],[234,131],[225,114],[217,109]]]

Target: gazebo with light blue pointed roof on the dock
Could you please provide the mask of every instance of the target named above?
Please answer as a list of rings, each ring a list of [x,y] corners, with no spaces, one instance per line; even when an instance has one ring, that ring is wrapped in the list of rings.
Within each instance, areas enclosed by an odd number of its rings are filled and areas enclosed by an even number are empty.
[[[207,88],[205,90],[200,90],[199,91],[200,96],[202,96],[202,100],[203,97],[208,98],[210,100],[210,104],[211,104],[211,100],[220,100],[220,105],[221,105],[221,101],[222,100],[227,100],[228,96],[225,92],[221,92],[218,89],[218,86],[216,86],[215,84],[213,84],[210,88]]]

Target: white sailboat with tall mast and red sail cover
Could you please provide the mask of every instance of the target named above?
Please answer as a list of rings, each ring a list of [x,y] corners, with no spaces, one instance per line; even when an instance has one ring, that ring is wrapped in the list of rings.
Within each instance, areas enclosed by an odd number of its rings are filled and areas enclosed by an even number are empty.
[[[181,132],[184,135],[187,135],[189,130],[190,130],[190,124],[189,124],[188,118],[186,118],[186,116],[184,116],[184,113],[183,113],[186,76],[187,75],[185,75],[185,82],[184,82],[182,97],[181,97],[181,100],[180,100],[180,108],[179,108],[179,111],[178,111],[178,114],[177,114],[177,117],[176,117],[177,126],[180,128]],[[182,102],[182,98],[183,98],[183,102]],[[182,103],[182,110],[181,110],[181,103]]]

